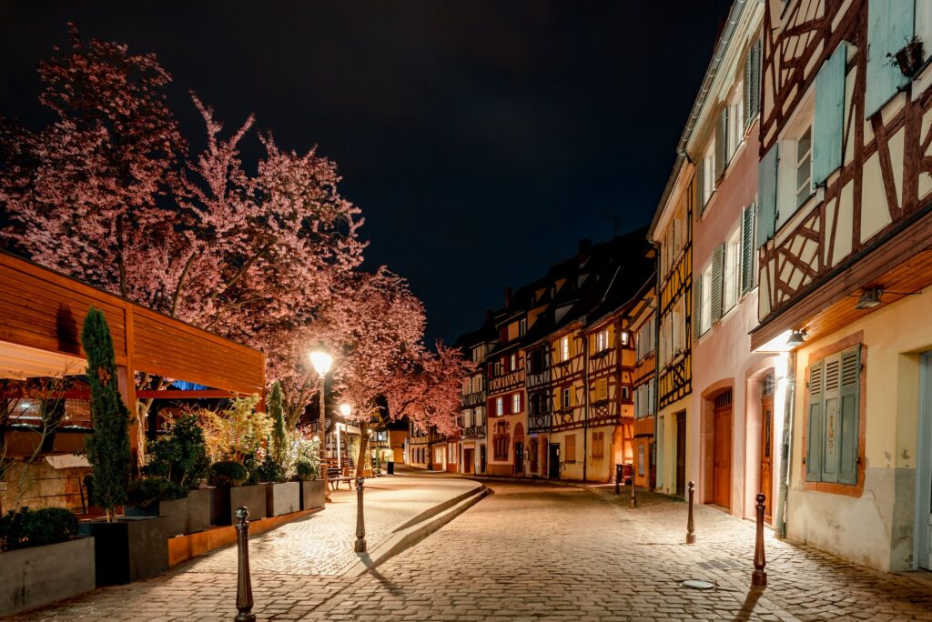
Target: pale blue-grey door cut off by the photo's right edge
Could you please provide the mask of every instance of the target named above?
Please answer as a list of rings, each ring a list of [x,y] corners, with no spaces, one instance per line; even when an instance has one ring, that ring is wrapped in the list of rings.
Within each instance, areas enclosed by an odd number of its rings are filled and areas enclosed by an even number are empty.
[[[922,358],[916,442],[915,563],[932,570],[932,352]]]

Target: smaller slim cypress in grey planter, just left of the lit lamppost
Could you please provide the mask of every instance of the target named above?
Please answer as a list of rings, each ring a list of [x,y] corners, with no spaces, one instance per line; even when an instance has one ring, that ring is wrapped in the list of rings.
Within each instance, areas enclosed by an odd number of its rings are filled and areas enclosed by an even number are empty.
[[[301,507],[301,486],[291,481],[295,470],[294,450],[285,429],[281,385],[278,381],[272,385],[268,396],[268,414],[272,419],[272,436],[267,443],[262,469],[262,479],[268,482],[266,512],[268,516],[281,516],[296,512]]]

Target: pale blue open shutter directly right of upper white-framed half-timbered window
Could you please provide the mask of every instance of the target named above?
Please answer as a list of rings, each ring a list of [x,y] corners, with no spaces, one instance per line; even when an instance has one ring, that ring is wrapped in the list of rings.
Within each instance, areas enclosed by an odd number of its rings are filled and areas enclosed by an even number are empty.
[[[842,166],[844,69],[848,47],[839,44],[816,74],[816,119],[813,122],[813,184],[820,185]]]

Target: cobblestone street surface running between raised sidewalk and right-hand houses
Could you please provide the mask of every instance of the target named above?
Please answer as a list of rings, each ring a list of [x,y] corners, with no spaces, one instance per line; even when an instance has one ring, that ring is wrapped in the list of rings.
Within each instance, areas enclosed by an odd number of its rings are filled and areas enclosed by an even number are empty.
[[[630,510],[624,495],[490,486],[496,494],[362,577],[254,573],[254,611],[260,620],[932,620],[932,583],[769,535],[769,586],[751,591],[753,525],[714,508],[696,508],[697,544],[686,546],[686,506],[665,497]],[[25,619],[229,619],[235,581],[196,564]],[[717,588],[680,588],[686,578]]]

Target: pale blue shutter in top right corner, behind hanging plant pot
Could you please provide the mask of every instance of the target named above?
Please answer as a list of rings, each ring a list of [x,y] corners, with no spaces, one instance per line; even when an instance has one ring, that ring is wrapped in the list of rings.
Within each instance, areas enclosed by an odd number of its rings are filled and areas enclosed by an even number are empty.
[[[912,38],[914,5],[911,0],[868,1],[868,71],[864,118],[884,107],[909,81],[891,56]]]

